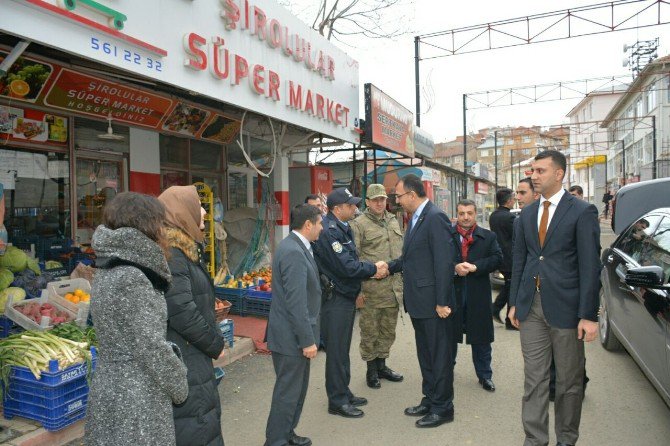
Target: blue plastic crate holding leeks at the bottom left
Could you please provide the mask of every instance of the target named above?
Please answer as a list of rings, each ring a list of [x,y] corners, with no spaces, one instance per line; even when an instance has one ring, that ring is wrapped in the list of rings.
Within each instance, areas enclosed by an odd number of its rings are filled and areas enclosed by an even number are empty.
[[[82,362],[59,370],[58,361],[49,362],[49,371],[39,379],[27,367],[12,366],[3,392],[4,417],[15,416],[39,421],[48,431],[57,431],[86,416],[88,377],[95,369],[96,350],[91,348],[91,364]]]

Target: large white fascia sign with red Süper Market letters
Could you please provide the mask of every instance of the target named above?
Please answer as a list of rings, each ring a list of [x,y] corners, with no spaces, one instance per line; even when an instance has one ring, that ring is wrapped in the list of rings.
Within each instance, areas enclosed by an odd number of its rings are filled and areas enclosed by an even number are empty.
[[[0,29],[324,135],[359,140],[358,63],[272,0],[82,3],[89,2],[9,0]]]

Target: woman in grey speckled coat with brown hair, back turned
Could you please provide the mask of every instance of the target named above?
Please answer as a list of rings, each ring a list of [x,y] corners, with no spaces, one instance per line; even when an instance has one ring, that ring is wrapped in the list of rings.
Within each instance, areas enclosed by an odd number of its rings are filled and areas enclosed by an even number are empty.
[[[153,197],[118,194],[93,234],[97,272],[91,314],[100,355],[88,397],[84,442],[174,445],[172,404],[188,395],[186,367],[165,339],[170,286],[165,208]]]

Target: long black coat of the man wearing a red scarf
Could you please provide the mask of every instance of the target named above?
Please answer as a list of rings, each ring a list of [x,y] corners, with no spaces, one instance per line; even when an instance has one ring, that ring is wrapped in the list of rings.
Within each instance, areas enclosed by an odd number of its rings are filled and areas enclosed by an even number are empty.
[[[485,344],[493,342],[489,274],[500,267],[502,252],[496,235],[488,229],[477,226],[472,236],[474,242],[468,249],[467,261],[477,266],[477,271],[465,277],[454,276],[454,289],[462,302],[461,309],[456,313],[457,324],[463,325],[462,332],[457,330],[456,341],[463,342],[463,333],[466,333],[468,344]],[[454,231],[455,264],[463,261],[460,237]]]

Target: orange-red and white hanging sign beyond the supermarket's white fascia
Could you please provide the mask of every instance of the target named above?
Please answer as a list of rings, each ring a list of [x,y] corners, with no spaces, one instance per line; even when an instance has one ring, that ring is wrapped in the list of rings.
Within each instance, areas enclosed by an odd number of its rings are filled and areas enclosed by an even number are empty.
[[[414,156],[414,116],[372,84],[365,84],[365,141]]]

